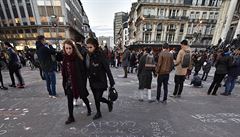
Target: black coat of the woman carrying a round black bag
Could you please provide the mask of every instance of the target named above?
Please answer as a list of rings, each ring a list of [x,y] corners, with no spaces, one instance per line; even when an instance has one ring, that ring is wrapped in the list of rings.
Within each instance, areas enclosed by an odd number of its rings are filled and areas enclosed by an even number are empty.
[[[107,90],[107,76],[110,86],[115,84],[108,62],[100,51],[95,51],[90,55],[89,82],[91,89]]]

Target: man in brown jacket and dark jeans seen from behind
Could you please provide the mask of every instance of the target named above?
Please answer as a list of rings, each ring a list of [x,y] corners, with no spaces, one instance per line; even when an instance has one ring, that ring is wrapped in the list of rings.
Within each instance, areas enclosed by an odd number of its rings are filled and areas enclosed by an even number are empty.
[[[156,67],[156,73],[158,74],[157,79],[157,101],[160,101],[161,87],[163,84],[164,96],[162,103],[167,103],[168,95],[168,80],[169,74],[174,67],[173,55],[169,52],[169,46],[167,43],[163,44],[163,50],[160,52],[158,57],[158,63]]]

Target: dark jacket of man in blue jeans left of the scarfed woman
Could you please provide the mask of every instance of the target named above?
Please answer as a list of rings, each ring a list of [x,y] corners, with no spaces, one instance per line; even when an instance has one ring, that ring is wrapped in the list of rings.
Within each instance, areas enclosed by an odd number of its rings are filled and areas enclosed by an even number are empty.
[[[55,54],[56,54],[56,51],[53,48],[48,48],[43,44],[38,45],[38,50],[37,50],[38,60],[44,72],[55,71],[56,63],[52,57],[52,56],[55,56]]]

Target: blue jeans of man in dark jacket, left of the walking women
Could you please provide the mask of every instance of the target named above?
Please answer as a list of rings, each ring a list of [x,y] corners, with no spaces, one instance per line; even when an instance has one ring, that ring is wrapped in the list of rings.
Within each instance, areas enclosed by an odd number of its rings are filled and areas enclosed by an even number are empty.
[[[44,72],[46,79],[47,90],[50,96],[56,96],[56,74],[52,72]]]

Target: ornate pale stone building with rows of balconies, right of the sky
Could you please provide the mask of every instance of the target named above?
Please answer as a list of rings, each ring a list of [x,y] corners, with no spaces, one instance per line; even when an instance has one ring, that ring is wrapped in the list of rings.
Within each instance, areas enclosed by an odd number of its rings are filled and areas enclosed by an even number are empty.
[[[188,39],[192,45],[210,45],[221,3],[221,0],[138,0],[130,12],[130,41],[179,44]]]

